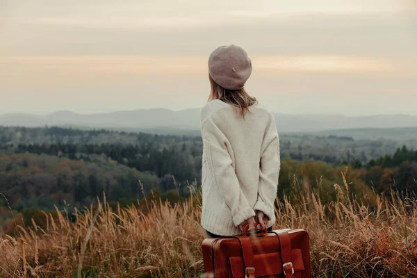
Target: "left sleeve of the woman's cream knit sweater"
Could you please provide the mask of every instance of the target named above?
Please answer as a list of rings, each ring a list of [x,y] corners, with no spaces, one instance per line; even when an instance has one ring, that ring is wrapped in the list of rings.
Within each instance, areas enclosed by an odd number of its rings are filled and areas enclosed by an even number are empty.
[[[240,189],[238,177],[232,166],[227,150],[227,138],[211,119],[202,124],[202,137],[208,169],[213,177],[213,186],[217,186],[224,203],[230,208],[233,222],[240,223],[255,215],[245,195]]]

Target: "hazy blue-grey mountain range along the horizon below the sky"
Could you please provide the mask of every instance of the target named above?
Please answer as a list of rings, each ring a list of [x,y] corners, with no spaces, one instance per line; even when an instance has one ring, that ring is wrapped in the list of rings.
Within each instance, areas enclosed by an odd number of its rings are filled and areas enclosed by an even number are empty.
[[[171,111],[165,108],[116,111],[111,113],[77,114],[58,111],[49,115],[14,113],[0,115],[4,126],[77,126],[119,130],[198,131],[199,108]],[[417,127],[417,116],[373,115],[288,115],[275,113],[279,132],[316,132],[325,130]],[[177,133],[177,132],[174,132]]]

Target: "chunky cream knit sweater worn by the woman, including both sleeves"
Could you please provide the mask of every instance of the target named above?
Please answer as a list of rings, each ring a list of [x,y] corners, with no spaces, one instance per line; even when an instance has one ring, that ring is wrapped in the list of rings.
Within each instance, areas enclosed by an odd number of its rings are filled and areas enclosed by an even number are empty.
[[[202,227],[220,236],[241,234],[238,225],[256,210],[271,227],[280,163],[272,113],[254,104],[243,120],[236,106],[214,99],[202,108],[201,131]]]

